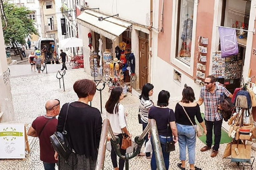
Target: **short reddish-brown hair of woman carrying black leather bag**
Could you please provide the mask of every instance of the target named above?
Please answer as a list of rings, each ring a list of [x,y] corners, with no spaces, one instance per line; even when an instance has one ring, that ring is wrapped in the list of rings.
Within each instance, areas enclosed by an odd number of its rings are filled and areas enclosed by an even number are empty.
[[[96,84],[88,79],[77,80],[73,85],[73,89],[78,98],[85,98],[96,93]]]

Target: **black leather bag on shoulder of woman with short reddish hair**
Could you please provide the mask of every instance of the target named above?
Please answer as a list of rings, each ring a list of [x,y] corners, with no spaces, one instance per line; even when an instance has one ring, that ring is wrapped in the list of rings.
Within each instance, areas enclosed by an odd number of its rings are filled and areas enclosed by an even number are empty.
[[[50,136],[52,147],[65,160],[68,159],[70,153],[74,152],[66,136],[67,131],[65,130],[66,121],[68,117],[69,104],[70,103],[68,103],[68,106],[67,106],[67,113],[66,113],[66,119],[65,119],[63,131],[62,132],[56,131],[54,132],[53,135]]]

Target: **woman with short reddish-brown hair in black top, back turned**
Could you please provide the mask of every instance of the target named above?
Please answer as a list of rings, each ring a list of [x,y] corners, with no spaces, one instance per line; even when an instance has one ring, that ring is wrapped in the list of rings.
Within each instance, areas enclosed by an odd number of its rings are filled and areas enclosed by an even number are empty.
[[[88,105],[96,92],[96,85],[92,80],[78,80],[73,85],[78,96],[78,101],[70,103],[65,130],[74,153],[65,161],[55,153],[55,159],[59,159],[60,170],[92,170],[96,167],[96,159],[100,143],[102,118],[100,111]],[[67,103],[61,108],[57,131],[64,128]]]

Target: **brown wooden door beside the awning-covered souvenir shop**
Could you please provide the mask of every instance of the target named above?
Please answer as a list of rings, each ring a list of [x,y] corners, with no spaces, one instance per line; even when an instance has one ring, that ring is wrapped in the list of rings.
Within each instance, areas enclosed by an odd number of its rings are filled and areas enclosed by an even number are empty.
[[[148,40],[139,37],[139,88],[148,83]]]

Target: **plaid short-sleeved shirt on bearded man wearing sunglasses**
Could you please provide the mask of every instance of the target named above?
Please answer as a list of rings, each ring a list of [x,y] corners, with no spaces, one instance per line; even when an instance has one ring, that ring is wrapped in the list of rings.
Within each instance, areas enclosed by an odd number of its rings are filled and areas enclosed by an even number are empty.
[[[220,95],[224,94],[225,96],[229,96],[231,93],[223,86],[219,86],[216,84],[216,88],[213,93],[202,87],[200,92],[200,98],[204,101],[205,113],[204,118],[207,121],[214,122],[221,120],[222,114],[218,112],[218,105],[220,105]]]

